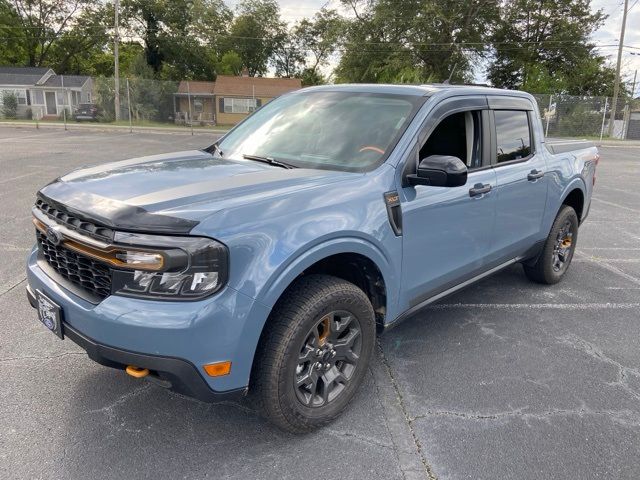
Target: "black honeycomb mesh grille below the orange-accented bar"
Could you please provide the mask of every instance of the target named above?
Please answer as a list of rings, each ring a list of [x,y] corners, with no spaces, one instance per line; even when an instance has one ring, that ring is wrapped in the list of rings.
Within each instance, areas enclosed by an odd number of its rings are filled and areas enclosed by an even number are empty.
[[[111,294],[109,267],[62,245],[54,245],[36,230],[38,248],[47,263],[60,275],[100,300]]]

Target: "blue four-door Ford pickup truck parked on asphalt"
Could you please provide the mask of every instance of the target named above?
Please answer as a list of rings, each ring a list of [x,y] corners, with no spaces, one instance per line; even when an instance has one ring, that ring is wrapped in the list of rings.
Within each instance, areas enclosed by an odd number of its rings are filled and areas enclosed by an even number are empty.
[[[528,94],[340,85],[204,150],[83,168],[37,194],[27,294],[98,363],[279,427],[335,418],[375,336],[521,263],[566,273],[598,163]]]

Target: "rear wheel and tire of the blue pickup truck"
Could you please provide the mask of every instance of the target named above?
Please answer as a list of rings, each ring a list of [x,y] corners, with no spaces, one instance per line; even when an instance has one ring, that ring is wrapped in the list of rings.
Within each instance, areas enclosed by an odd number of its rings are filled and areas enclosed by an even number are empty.
[[[578,226],[578,215],[575,210],[568,205],[563,205],[553,222],[536,263],[522,265],[529,280],[545,285],[553,285],[562,280],[571,265],[576,249]]]

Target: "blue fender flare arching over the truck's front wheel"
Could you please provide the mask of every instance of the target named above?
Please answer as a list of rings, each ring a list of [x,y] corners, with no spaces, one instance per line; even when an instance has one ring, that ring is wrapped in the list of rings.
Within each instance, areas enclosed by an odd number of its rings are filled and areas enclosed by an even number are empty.
[[[325,240],[318,244],[306,245],[299,249],[299,254],[283,264],[272,275],[257,295],[256,300],[269,308],[273,308],[284,291],[306,269],[316,262],[340,253],[356,253],[367,257],[380,270],[387,289],[387,303],[397,298],[397,292],[390,291],[389,285],[399,285],[399,278],[393,272],[391,264],[384,252],[369,240],[359,237],[340,237]]]

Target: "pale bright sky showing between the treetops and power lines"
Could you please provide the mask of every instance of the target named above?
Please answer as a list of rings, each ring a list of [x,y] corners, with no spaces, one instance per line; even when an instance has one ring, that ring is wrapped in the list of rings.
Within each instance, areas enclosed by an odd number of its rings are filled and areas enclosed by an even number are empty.
[[[237,3],[238,0],[228,1],[231,6],[235,6]],[[323,5],[340,10],[340,2],[338,0],[279,0],[278,3],[280,4],[283,19],[289,24],[293,24],[304,17],[313,16]],[[599,45],[613,45],[612,47],[607,46],[599,49],[603,56],[609,58],[612,65],[615,65],[618,53],[617,45],[622,25],[623,5],[624,0],[592,0],[591,2],[594,10],[602,9],[608,15],[604,25],[594,33],[593,40]],[[640,70],[640,0],[629,0],[629,7],[624,45],[637,48],[623,50],[621,71],[622,78],[631,82],[634,70]],[[484,67],[480,67],[476,71],[476,81],[479,83],[486,82]],[[640,93],[640,74],[636,82],[636,92]]]

